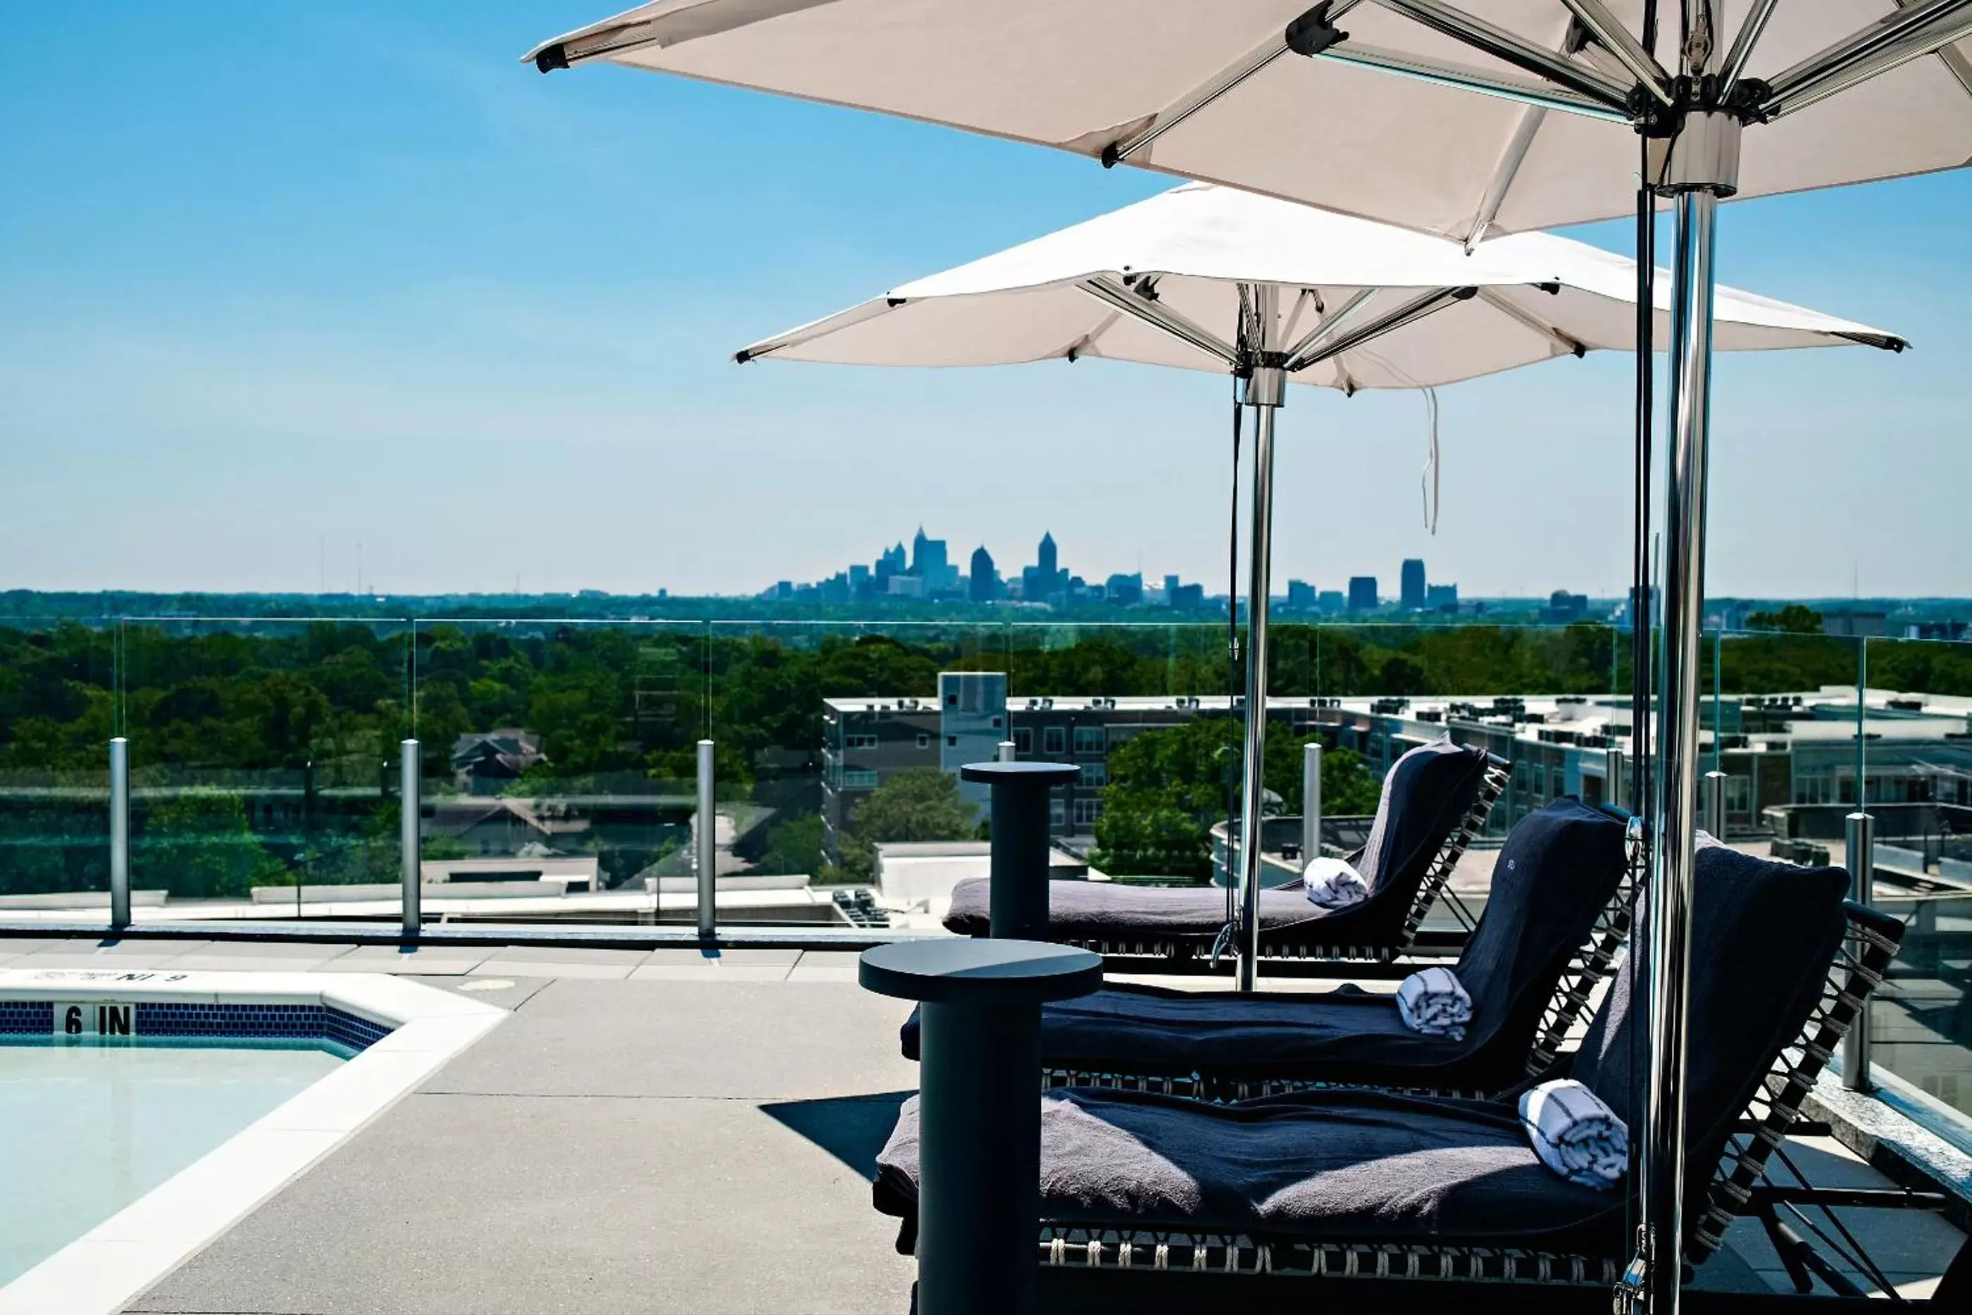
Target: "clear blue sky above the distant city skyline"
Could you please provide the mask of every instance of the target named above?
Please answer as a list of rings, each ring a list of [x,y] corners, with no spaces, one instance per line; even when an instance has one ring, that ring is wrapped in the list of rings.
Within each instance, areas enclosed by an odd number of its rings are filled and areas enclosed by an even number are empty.
[[[532,41],[607,2],[10,4],[0,588],[751,591],[923,520],[1225,578],[1227,392],[728,353],[1169,181]],[[1905,333],[1722,359],[1714,593],[1968,593],[1972,172],[1731,205],[1722,276]],[[1578,233],[1623,248],[1623,227]],[[1276,582],[1615,593],[1629,363],[1298,390]]]

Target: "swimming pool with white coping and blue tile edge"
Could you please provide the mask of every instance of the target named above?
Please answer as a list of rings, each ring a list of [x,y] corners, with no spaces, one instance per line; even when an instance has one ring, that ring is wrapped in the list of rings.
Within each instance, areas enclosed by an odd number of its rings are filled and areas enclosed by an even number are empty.
[[[0,970],[0,1315],[108,1315],[505,1017],[371,974]]]

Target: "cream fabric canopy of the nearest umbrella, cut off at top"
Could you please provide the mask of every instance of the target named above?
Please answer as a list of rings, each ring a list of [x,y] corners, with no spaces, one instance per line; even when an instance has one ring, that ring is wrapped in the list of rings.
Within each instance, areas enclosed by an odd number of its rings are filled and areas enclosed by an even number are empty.
[[[1633,209],[1631,67],[1649,49],[1676,71],[1680,53],[1676,20],[1643,39],[1643,8],[657,0],[528,59],[542,69],[607,59],[874,108],[1477,241]],[[1745,134],[1739,195],[1972,160],[1972,6],[1962,0],[1706,8],[1714,65],[1733,67],[1749,12],[1765,28],[1737,65],[1757,79],[1741,83],[1747,110],[1767,120]],[[1840,59],[1852,37],[1869,45],[1867,69],[1889,71],[1852,87],[1858,69]],[[1489,95],[1447,112],[1432,83]]]

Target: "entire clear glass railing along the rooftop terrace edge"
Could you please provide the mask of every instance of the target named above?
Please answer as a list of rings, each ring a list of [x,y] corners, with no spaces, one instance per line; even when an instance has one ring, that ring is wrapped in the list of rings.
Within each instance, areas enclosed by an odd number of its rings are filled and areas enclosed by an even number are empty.
[[[1714,828],[1850,864],[1844,816],[1873,814],[1875,901],[1913,921],[1873,1059],[1891,1096],[1972,1112],[1972,645],[1729,633],[1708,657]],[[1627,664],[1605,625],[1276,623],[1270,804],[1300,812],[1319,739],[1331,820],[1367,814],[1440,731],[1514,763],[1495,834],[1556,795],[1627,802]],[[921,885],[885,899],[885,846],[972,846],[984,873],[954,761],[1004,739],[1098,769],[1055,800],[1067,864],[1207,881],[1234,676],[1199,621],[0,621],[0,919],[108,907],[112,737],[138,923],[396,921],[404,739],[426,919],[698,923],[702,739],[720,927],[937,931]]]

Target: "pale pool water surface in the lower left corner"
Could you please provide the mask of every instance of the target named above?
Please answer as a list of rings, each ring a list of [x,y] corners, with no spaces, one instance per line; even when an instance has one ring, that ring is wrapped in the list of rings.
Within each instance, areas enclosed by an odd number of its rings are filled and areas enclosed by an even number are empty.
[[[0,1285],[341,1063],[321,1047],[0,1045]]]

